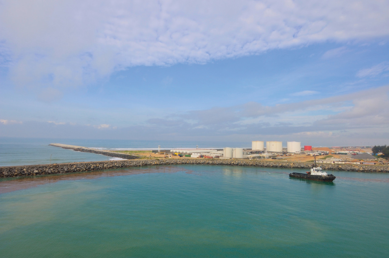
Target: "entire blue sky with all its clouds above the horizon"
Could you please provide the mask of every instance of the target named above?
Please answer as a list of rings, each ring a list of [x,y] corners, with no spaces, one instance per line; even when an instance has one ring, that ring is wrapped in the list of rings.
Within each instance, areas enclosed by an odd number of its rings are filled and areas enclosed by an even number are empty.
[[[388,14],[385,0],[0,0],[0,137],[389,144]]]

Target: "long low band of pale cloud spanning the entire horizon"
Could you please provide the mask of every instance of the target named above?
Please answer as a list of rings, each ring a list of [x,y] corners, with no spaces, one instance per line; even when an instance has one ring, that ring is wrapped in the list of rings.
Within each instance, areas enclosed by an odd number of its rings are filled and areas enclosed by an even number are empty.
[[[230,107],[192,110],[148,119],[142,125],[117,128],[109,124],[71,125],[63,122],[0,120],[8,137],[62,137],[86,139],[155,139],[247,141],[252,139],[308,141],[309,145],[388,144],[389,86],[352,94],[264,106],[257,102]],[[13,121],[13,122],[12,122]],[[21,122],[20,122],[21,123]],[[52,123],[64,124],[56,126]],[[4,126],[3,126],[4,124]],[[112,133],[115,130],[115,133]],[[369,144],[370,142],[370,144]]]

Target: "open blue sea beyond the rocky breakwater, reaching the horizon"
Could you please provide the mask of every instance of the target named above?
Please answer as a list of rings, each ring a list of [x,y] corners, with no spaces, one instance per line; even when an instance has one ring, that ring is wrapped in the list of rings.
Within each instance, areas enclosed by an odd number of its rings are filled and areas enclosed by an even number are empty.
[[[107,150],[137,150],[174,148],[223,148],[248,147],[246,142],[195,142],[195,141],[144,141],[144,140],[83,140],[83,139],[44,139],[44,138],[9,138],[0,137],[0,166],[18,166],[30,164],[72,163],[83,161],[104,161],[109,158],[100,154],[76,152],[51,143],[77,145],[82,147]]]

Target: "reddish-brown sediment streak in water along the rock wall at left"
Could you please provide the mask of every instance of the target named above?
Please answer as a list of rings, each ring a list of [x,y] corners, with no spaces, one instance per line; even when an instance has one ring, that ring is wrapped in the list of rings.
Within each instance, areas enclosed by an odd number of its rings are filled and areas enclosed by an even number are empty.
[[[6,192],[12,192],[16,190],[23,190],[38,185],[53,184],[61,180],[80,180],[80,179],[95,179],[101,177],[115,177],[123,175],[137,175],[145,173],[176,173],[179,171],[185,171],[191,173],[191,170],[174,167],[174,166],[160,166],[155,168],[127,168],[127,169],[113,169],[113,170],[100,170],[100,171],[88,171],[68,174],[53,174],[53,175],[39,175],[34,177],[20,177],[20,178],[7,178],[0,181],[0,194]]]

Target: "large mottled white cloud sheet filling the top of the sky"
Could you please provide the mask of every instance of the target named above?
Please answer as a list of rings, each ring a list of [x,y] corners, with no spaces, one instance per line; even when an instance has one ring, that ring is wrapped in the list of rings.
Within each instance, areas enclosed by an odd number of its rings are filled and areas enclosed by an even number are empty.
[[[0,66],[18,85],[61,91],[129,66],[387,36],[388,13],[389,2],[378,0],[4,0]]]

